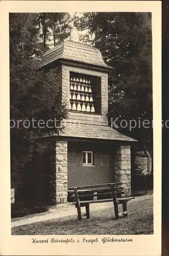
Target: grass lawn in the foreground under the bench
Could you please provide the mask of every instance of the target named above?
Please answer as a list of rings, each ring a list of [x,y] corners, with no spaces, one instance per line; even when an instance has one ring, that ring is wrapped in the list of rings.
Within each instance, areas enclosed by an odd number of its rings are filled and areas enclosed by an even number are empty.
[[[112,204],[113,205],[113,204]],[[119,206],[120,208],[120,206]],[[115,220],[114,209],[91,212],[90,219],[68,216],[12,228],[13,235],[52,234],[153,234],[153,199],[128,203],[127,218]]]

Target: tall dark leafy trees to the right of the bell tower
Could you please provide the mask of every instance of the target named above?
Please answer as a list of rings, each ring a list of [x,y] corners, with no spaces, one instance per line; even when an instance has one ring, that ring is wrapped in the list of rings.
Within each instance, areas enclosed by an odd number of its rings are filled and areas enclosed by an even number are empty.
[[[114,68],[108,79],[109,120],[118,118],[114,129],[137,139],[139,150],[152,153],[151,13],[83,13],[74,16],[74,26],[88,31],[80,39],[98,48]],[[150,129],[137,126],[130,131],[129,125],[120,126],[123,119],[127,124],[148,119]]]

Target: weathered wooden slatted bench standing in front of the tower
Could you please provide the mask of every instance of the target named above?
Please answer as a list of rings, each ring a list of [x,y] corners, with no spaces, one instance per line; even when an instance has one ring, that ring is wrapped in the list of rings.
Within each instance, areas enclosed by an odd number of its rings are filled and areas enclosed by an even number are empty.
[[[86,218],[90,218],[89,204],[113,202],[115,218],[126,217],[127,202],[133,197],[126,197],[123,183],[114,182],[92,186],[69,187],[67,190],[67,202],[73,202],[78,211],[78,219],[82,220],[81,207],[86,208]],[[122,204],[123,212],[118,212],[118,205]]]

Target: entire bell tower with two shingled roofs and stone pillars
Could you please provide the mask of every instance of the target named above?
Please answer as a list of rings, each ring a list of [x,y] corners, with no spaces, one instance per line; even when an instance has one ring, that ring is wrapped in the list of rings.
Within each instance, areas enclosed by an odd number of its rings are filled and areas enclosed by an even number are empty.
[[[122,181],[130,195],[130,143],[135,140],[108,126],[108,73],[113,68],[98,49],[73,40],[43,54],[40,68],[56,67],[68,116],[64,131],[56,135],[52,201],[66,202],[68,187],[112,181]]]

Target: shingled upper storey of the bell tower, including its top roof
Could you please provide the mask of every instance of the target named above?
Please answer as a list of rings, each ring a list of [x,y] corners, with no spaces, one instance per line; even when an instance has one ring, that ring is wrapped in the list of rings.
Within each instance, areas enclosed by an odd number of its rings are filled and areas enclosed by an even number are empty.
[[[101,52],[91,46],[65,40],[45,52],[39,68],[60,67],[62,102],[69,109],[67,122],[107,125],[108,72]]]

